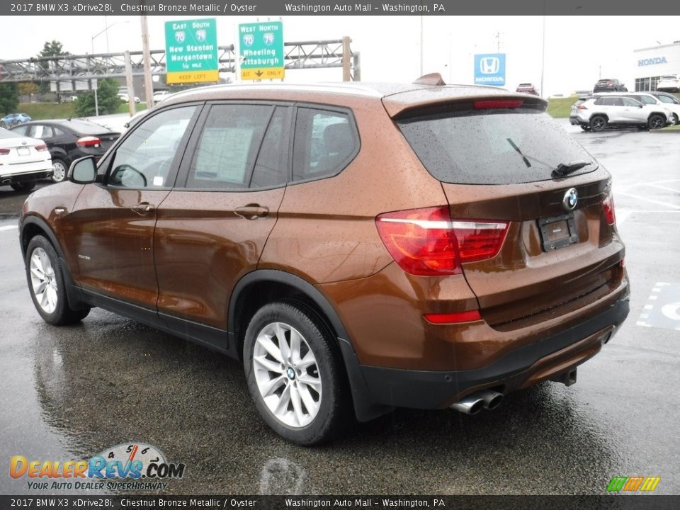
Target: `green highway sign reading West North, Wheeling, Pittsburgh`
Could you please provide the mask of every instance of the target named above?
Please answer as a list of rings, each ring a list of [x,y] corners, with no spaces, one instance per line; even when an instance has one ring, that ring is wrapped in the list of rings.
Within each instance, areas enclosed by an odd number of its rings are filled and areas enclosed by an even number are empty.
[[[283,23],[239,25],[241,79],[283,78]]]

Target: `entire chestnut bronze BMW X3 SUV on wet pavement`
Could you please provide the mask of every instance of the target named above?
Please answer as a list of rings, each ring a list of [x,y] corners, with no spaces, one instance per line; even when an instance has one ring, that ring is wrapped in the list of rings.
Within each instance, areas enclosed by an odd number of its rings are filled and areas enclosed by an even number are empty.
[[[103,307],[243,361],[298,444],[394,407],[467,413],[571,384],[628,314],[611,177],[480,86],[214,86],[33,193],[51,324]]]

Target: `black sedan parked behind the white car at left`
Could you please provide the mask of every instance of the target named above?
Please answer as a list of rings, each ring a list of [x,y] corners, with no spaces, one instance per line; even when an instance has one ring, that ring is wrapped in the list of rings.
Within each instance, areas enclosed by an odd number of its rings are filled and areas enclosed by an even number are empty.
[[[20,135],[39,138],[50,150],[54,174],[52,180],[61,182],[75,159],[94,156],[98,161],[115,140],[119,132],[103,128],[84,119],[34,120],[11,129]]]

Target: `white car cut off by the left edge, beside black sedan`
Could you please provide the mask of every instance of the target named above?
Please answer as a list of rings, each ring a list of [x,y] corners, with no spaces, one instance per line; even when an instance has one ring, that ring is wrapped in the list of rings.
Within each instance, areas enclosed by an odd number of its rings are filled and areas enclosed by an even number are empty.
[[[0,128],[0,186],[30,191],[35,181],[52,176],[52,158],[42,140]]]

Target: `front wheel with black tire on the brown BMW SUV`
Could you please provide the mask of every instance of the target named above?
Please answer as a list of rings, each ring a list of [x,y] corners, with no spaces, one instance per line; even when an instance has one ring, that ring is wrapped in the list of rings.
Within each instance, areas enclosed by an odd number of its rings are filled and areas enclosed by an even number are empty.
[[[34,256],[37,260],[33,258]],[[38,310],[45,322],[55,326],[74,324],[89,314],[89,307],[83,310],[73,310],[69,306],[59,257],[52,244],[41,235],[33,237],[28,243],[26,279],[35,310]],[[38,285],[40,280],[43,283]],[[40,293],[40,288],[45,290]]]

